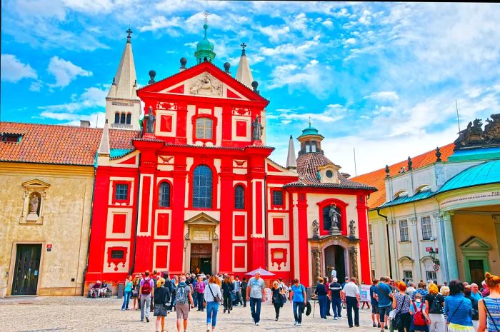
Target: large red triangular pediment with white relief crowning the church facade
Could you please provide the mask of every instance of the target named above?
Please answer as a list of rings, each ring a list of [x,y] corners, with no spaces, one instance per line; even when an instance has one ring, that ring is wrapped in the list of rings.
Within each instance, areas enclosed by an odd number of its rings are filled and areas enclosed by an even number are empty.
[[[210,62],[198,64],[154,84],[144,86],[137,91],[139,97],[151,96],[151,93],[167,96],[201,96],[269,103],[255,91]]]

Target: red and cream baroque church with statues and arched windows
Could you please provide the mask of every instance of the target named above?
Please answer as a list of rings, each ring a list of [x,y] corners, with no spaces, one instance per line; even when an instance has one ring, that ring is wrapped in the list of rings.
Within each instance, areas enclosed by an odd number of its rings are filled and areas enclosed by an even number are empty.
[[[311,126],[298,157],[290,138],[286,167],[271,161],[269,101],[249,81],[245,52],[235,79],[212,64],[204,41],[196,66],[181,61],[178,74],[131,88],[146,114],[134,149],[110,149],[105,125],[86,283],[153,269],[243,276],[262,267],[311,286],[331,266],[369,283],[366,198],[376,189],[340,173]]]

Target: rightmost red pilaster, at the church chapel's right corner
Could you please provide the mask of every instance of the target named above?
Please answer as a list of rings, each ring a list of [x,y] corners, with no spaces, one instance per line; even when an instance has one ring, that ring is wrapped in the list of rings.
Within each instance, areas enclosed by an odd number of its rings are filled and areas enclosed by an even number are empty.
[[[356,209],[358,210],[358,230],[359,230],[359,257],[361,265],[359,268],[361,280],[367,285],[371,283],[371,259],[370,243],[368,234],[368,206],[366,206],[366,195],[357,196]]]

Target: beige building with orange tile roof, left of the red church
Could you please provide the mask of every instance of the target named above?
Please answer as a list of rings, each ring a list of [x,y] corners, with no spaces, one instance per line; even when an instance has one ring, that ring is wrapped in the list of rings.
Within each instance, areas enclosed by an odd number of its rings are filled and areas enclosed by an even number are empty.
[[[0,122],[0,297],[81,295],[101,134]],[[134,135],[112,130],[111,145]]]

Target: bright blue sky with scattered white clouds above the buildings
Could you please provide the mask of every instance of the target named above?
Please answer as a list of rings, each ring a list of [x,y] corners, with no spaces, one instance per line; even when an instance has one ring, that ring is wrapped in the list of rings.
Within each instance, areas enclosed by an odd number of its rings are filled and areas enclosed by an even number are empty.
[[[500,5],[341,2],[1,1],[1,121],[99,117],[129,24],[139,85],[176,73],[209,16],[215,64],[236,74],[244,41],[267,109],[271,156],[311,116],[323,149],[357,173],[456,139],[499,113]],[[298,144],[296,144],[298,147]]]

